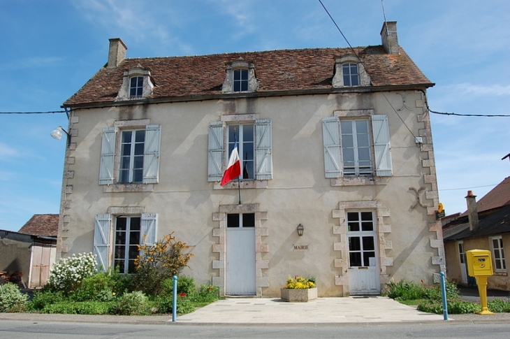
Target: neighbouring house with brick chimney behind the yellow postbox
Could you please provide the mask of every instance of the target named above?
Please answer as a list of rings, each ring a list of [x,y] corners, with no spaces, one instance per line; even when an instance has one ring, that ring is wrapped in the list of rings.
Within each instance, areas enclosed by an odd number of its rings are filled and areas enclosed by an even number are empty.
[[[448,278],[460,284],[475,284],[474,278],[467,275],[466,251],[489,250],[494,275],[488,278],[488,288],[510,291],[504,255],[510,253],[510,177],[478,202],[468,191],[466,201],[467,211],[446,219],[443,226]]]

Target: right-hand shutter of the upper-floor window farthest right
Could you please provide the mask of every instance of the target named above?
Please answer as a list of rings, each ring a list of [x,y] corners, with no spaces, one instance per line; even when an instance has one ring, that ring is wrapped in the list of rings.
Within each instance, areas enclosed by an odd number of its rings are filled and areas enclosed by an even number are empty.
[[[393,175],[388,115],[372,115],[372,133],[374,134],[375,173],[381,177]]]

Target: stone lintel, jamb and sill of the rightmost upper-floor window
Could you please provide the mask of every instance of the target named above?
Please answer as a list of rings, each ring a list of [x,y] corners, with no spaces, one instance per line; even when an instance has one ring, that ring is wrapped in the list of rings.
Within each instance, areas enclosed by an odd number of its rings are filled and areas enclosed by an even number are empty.
[[[372,109],[366,110],[335,110],[333,112],[334,117],[339,117],[342,119],[355,119],[356,117],[369,119],[371,115],[374,115],[375,111]],[[372,158],[374,157],[374,140],[372,136],[372,125],[368,124],[368,128],[370,129],[370,144]],[[372,161],[374,162],[374,161]],[[373,166],[373,165],[372,165]],[[375,171],[375,168],[374,168]],[[340,178],[331,178],[331,186],[361,186],[361,185],[386,185],[388,183],[388,179],[391,177],[378,177],[376,175],[368,175],[368,176],[342,176]]]

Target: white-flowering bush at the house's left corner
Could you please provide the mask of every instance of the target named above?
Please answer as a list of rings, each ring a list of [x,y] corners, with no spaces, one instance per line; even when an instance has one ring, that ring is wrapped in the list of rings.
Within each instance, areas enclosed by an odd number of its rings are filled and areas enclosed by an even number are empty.
[[[76,256],[73,254],[54,264],[48,285],[53,290],[60,290],[67,294],[80,286],[86,277],[94,273],[96,273],[96,255],[80,253]]]

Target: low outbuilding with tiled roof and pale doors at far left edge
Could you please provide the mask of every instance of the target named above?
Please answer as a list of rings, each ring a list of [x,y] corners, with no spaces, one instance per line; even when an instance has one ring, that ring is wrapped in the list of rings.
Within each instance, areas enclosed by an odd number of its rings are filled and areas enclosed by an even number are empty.
[[[0,230],[3,277],[35,288],[46,284],[57,249],[59,215],[34,215],[17,231]]]

